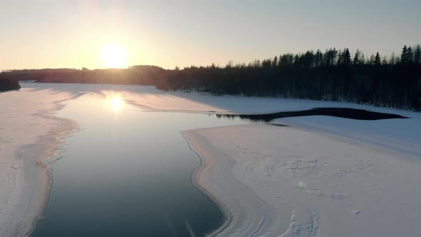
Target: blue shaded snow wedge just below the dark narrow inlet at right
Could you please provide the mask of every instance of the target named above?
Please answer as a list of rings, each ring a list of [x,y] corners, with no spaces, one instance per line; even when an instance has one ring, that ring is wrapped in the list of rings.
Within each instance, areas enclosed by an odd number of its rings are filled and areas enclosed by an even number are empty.
[[[396,110],[390,112],[405,114]],[[410,119],[361,121],[330,116],[307,116],[276,119],[273,123],[325,133],[336,139],[353,140],[355,143],[366,143],[421,158],[421,114],[409,112],[407,115],[410,115]]]

